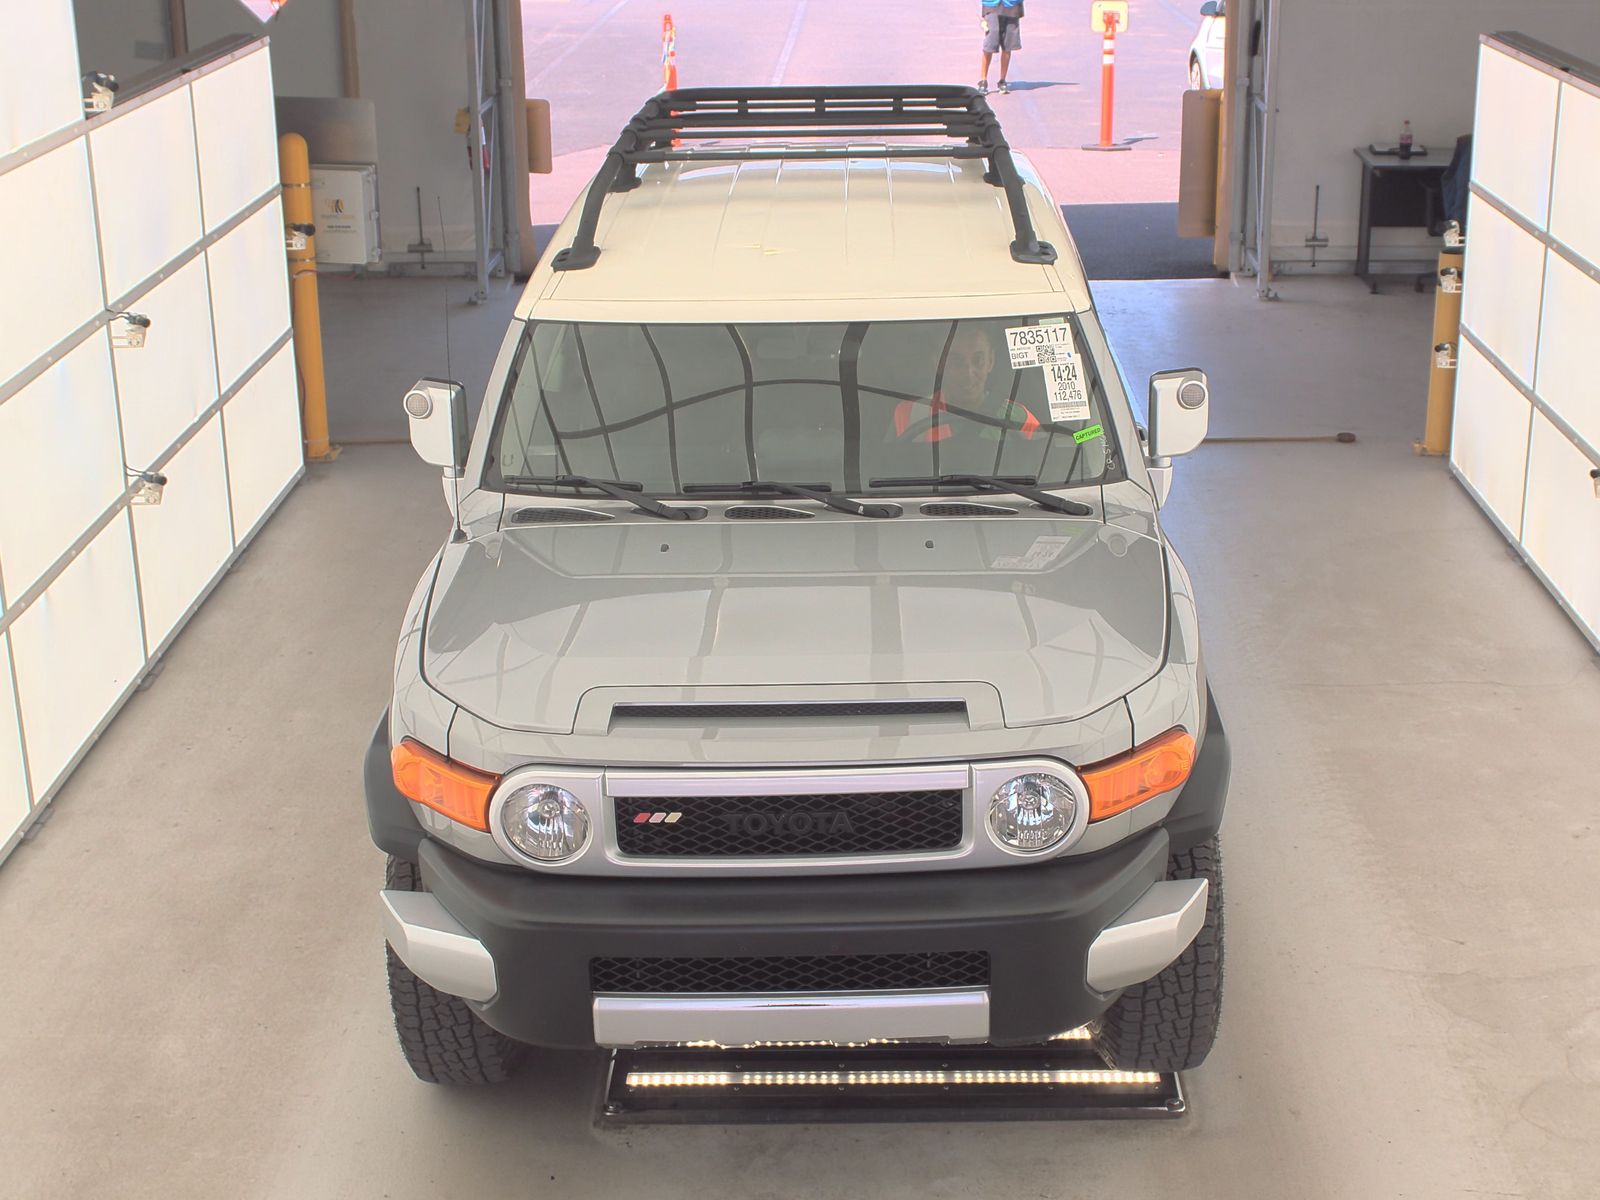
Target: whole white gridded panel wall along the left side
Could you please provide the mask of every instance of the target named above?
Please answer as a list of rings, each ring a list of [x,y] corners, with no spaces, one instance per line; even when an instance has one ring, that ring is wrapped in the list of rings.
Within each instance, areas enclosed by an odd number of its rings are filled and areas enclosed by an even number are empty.
[[[85,120],[69,0],[0,42],[0,858],[298,478],[261,43]],[[130,310],[142,347],[118,346]],[[166,477],[133,506],[130,472]]]

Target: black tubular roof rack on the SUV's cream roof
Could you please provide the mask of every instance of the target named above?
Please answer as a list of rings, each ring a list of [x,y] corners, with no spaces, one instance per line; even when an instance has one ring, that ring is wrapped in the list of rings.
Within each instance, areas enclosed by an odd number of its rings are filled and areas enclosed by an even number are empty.
[[[674,142],[736,138],[752,146],[686,146]],[[882,138],[931,138],[933,146],[768,146],[762,141],[827,138],[834,142]],[[976,88],[685,88],[651,96],[624,126],[584,195],[573,245],[550,262],[555,270],[584,270],[600,258],[595,227],[610,192],[638,186],[642,163],[760,162],[774,158],[984,158],[984,181],[1003,187],[1016,240],[1018,262],[1054,262],[1056,250],[1040,242],[1027,213],[1022,178],[1000,122]]]

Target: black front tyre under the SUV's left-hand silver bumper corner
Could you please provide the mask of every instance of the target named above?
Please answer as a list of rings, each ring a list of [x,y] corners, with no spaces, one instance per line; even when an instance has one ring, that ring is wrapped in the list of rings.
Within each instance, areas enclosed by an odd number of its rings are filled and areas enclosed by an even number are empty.
[[[414,862],[392,854],[384,885],[395,891],[427,891]],[[478,1018],[459,995],[448,995],[418,979],[394,947],[389,958],[389,1006],[395,1014],[400,1051],[424,1083],[504,1083],[526,1050]]]

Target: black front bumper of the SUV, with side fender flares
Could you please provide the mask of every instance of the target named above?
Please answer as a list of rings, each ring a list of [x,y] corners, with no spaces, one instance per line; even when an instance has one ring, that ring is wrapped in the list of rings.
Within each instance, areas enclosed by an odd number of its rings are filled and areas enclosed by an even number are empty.
[[[378,845],[416,861],[429,891],[488,947],[499,994],[475,1008],[518,1040],[594,1045],[590,958],[986,950],[990,1040],[1037,1042],[1106,1010],[1110,997],[1083,981],[1090,942],[1165,875],[1173,850],[1216,832],[1229,749],[1214,704],[1206,726],[1165,824],[1101,854],[1037,867],[733,880],[494,867],[422,835],[387,779],[382,726],[368,755],[368,816]],[[398,810],[382,795],[374,808],[374,787]]]

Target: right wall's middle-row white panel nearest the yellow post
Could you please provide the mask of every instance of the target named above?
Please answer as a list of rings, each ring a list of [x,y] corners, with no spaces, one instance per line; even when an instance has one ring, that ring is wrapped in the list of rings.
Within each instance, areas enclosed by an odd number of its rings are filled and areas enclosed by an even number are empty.
[[[1467,286],[1461,323],[1499,355],[1517,378],[1533,384],[1539,349],[1539,290],[1544,285],[1544,245],[1493,205],[1472,197],[1467,206]]]

